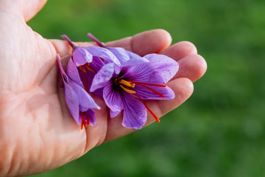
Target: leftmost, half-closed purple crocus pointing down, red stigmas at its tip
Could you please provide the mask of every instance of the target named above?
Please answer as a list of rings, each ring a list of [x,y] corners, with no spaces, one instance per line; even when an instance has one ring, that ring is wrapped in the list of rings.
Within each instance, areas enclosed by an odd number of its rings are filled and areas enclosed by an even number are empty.
[[[59,54],[57,54],[57,64],[61,73],[67,107],[81,129],[87,125],[95,125],[96,117],[93,109],[100,109],[92,97],[85,91],[72,60],[67,65],[67,73],[64,71]],[[71,75],[71,77],[70,77]]]

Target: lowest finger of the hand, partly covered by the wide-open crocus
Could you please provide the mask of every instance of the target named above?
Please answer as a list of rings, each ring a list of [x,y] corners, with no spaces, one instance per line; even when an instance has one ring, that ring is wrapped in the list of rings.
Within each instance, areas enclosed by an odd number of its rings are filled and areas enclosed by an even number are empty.
[[[193,92],[193,84],[188,78],[177,78],[168,83],[168,86],[174,91],[175,98],[173,100],[156,100],[156,101],[146,101],[146,105],[151,111],[158,117],[161,117],[177,108],[184,101],[186,101]],[[132,128],[125,128],[122,126],[122,114],[109,120],[108,132],[104,142],[108,142],[135,131]],[[146,125],[154,121],[151,114],[148,113]]]

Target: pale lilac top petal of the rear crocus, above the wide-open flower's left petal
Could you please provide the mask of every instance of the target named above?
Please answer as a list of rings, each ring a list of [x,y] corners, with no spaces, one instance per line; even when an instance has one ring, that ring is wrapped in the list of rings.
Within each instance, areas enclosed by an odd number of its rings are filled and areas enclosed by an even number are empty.
[[[104,63],[115,63],[119,66],[121,65],[121,63],[115,57],[115,55],[108,49],[91,46],[91,47],[86,47],[85,50],[87,50],[93,56],[102,58],[104,60]]]

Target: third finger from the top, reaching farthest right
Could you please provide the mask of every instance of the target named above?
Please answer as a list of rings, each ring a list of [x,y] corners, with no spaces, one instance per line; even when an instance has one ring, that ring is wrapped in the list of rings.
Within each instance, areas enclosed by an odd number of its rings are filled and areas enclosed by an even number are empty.
[[[206,72],[207,64],[200,55],[188,55],[178,61],[179,71],[173,77],[187,77],[192,82],[199,79]]]

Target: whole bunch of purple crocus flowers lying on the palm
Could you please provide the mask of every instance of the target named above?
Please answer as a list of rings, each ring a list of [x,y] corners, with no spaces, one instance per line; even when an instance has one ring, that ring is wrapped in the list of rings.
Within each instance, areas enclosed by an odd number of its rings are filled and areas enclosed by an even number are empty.
[[[95,125],[93,109],[100,109],[90,93],[104,99],[111,118],[123,111],[122,125],[127,128],[140,129],[146,122],[146,110],[159,122],[144,100],[171,100],[175,97],[166,83],[177,73],[178,63],[165,55],[140,57],[123,48],[104,46],[90,33],[88,36],[98,47],[80,47],[66,35],[62,36],[73,49],[66,72],[57,55],[66,103],[81,129]]]

